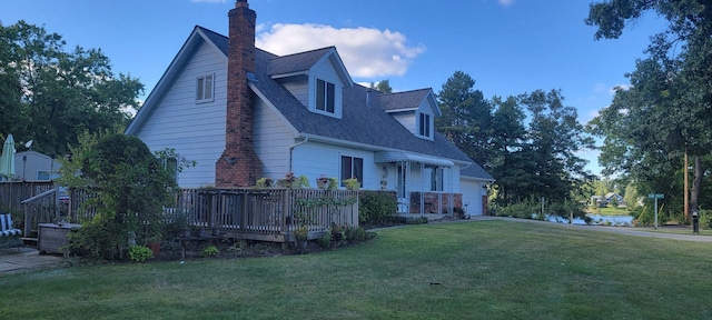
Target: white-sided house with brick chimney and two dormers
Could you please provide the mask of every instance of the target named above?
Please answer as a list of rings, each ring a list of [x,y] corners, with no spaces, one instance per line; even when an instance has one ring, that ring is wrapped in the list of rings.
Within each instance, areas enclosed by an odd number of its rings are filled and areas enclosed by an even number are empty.
[[[313,184],[322,174],[355,177],[363,189],[394,191],[405,214],[464,204],[484,212],[493,178],[434,130],[432,89],[359,86],[334,47],[284,57],[257,49],[246,0],[228,20],[228,37],[192,30],[126,130],[197,162],[178,172],[180,187],[248,187],[287,172]]]

